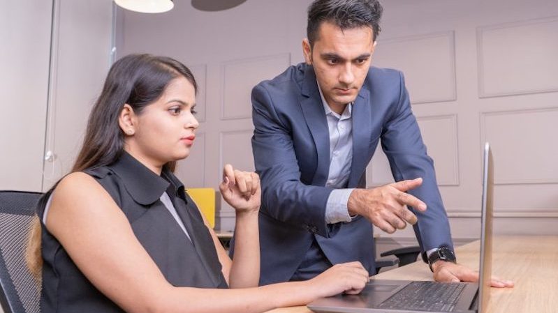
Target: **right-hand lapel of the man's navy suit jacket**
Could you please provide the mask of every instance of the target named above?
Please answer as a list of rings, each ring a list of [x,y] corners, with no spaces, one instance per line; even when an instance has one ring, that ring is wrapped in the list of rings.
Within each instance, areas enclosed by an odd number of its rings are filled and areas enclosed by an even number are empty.
[[[362,86],[353,104],[353,160],[351,174],[348,176],[348,187],[353,188],[358,184],[360,176],[367,166],[372,124],[370,120],[371,103],[370,91]]]

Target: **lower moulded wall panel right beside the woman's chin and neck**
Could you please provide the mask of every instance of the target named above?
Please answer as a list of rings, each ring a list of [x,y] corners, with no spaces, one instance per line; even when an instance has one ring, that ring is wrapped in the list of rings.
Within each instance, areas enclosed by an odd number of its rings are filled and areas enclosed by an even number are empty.
[[[205,185],[205,134],[196,134],[196,140],[190,150],[190,155],[177,164],[175,175],[184,183],[186,188],[202,188]]]

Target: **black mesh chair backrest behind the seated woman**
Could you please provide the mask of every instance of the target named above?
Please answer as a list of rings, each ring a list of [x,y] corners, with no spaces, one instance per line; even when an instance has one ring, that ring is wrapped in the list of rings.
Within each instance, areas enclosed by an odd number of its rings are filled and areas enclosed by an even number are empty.
[[[0,190],[0,305],[5,313],[38,313],[41,286],[25,262],[40,192]]]

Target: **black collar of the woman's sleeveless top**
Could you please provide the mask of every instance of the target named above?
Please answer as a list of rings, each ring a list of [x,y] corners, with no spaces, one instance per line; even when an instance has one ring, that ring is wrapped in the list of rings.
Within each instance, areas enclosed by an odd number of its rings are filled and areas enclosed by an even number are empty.
[[[139,204],[153,204],[165,191],[173,200],[176,195],[184,193],[184,185],[166,167],[159,176],[126,151],[109,167],[122,179],[126,190]]]

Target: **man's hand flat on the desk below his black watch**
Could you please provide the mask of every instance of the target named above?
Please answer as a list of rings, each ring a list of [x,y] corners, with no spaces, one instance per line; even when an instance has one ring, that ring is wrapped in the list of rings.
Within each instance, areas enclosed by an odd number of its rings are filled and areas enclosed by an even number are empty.
[[[478,282],[478,271],[461,264],[440,260],[432,264],[432,270],[436,282]],[[511,280],[501,280],[495,276],[492,276],[490,284],[497,288],[513,287]]]

